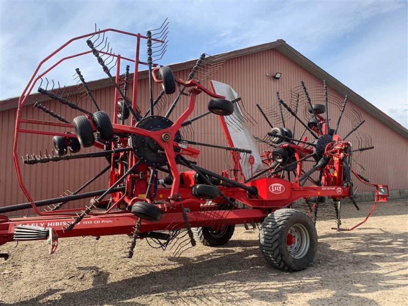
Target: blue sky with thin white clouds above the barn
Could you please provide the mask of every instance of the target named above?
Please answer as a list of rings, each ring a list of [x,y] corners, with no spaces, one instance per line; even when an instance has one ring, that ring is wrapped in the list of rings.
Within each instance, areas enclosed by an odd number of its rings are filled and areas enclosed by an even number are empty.
[[[0,0],[0,100],[20,95],[43,58],[70,38],[93,32],[95,23],[145,34],[166,17],[169,43],[160,64],[284,39],[408,128],[407,1]],[[113,52],[134,57],[133,38],[108,38]],[[52,63],[86,50],[84,41],[74,43]],[[106,78],[89,61],[95,59],[71,60],[48,77],[72,85],[79,67],[87,81]]]

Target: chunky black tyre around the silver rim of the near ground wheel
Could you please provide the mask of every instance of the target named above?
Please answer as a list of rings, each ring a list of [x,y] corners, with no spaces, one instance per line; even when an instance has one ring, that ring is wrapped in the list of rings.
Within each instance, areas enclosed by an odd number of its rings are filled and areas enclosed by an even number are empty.
[[[303,224],[310,237],[309,250],[303,258],[293,258],[286,246],[286,236],[293,224]],[[276,269],[300,271],[313,261],[317,251],[317,232],[312,219],[294,209],[278,209],[262,222],[259,245],[266,261]]]

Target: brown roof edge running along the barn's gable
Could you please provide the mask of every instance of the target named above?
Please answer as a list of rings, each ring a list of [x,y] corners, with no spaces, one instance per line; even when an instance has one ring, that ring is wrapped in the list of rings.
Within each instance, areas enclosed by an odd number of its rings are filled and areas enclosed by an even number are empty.
[[[262,52],[264,50],[268,49],[276,49],[279,53],[282,53],[295,63],[297,63],[300,67],[304,68],[311,74],[313,74],[316,78],[319,80],[326,80],[327,85],[334,90],[336,90],[338,93],[342,95],[348,94],[349,99],[353,101],[355,104],[359,105],[361,108],[363,108],[365,111],[370,113],[373,117],[381,121],[382,123],[388,125],[402,135],[405,138],[408,138],[408,130],[405,129],[401,124],[399,124],[397,121],[395,121],[393,118],[388,116],[386,113],[382,112],[378,108],[376,108],[374,105],[369,103],[366,99],[364,99],[362,96],[359,94],[355,93],[353,90],[345,86],[343,83],[341,83],[339,80],[334,78],[332,75],[324,71],[322,68],[317,66],[315,63],[313,63],[311,60],[308,58],[304,57],[301,55],[297,50],[292,48],[289,44],[286,43],[283,39],[278,39],[277,41],[269,42],[269,43],[264,43],[256,46],[251,46],[247,48],[242,48],[238,50],[234,50],[231,52],[227,52],[224,54],[224,60],[228,59],[233,59],[249,54],[254,54],[257,52]],[[182,63],[176,63],[169,65],[173,71],[179,71],[179,70],[184,70],[188,69],[194,66],[196,63],[196,59],[182,62]],[[147,70],[139,71],[138,75],[139,79],[145,79],[147,78]],[[130,75],[130,79],[132,80],[133,78],[133,73]],[[106,79],[100,79],[100,80],[95,80],[95,81],[90,81],[87,82],[88,86],[91,90],[99,89],[99,88],[105,88],[105,87],[110,87],[111,83],[108,78]],[[67,89],[71,89],[72,93],[78,93],[79,92],[79,86],[78,85],[73,85],[70,87],[67,87]],[[34,93],[31,94],[30,97],[27,99],[26,104],[34,104],[36,102],[41,102],[41,101],[46,101],[49,100],[50,98],[39,94],[39,93]],[[13,97],[13,98],[8,98],[5,100],[0,100],[0,111],[4,111],[7,109],[12,109],[16,108],[18,104],[18,97]]]

